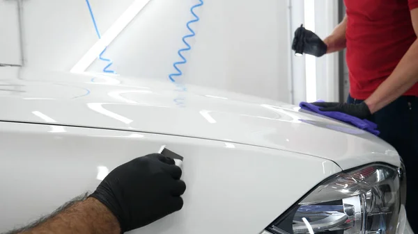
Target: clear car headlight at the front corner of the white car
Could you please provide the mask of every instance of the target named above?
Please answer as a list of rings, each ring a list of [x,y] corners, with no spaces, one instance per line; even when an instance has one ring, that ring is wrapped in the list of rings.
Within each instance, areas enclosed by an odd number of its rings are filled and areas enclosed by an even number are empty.
[[[401,168],[369,165],[343,172],[318,185],[265,231],[394,234],[404,190]]]

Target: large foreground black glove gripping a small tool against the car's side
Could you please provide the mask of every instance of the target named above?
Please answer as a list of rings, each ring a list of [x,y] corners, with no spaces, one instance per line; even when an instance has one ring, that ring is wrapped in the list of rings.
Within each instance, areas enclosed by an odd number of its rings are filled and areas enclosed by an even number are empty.
[[[122,232],[131,231],[183,207],[181,174],[173,159],[150,154],[116,167],[90,197],[111,210]]]

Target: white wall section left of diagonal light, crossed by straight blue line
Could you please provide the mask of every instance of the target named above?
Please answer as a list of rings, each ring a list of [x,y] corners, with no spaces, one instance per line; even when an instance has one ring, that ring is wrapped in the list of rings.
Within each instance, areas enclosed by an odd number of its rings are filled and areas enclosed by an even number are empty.
[[[23,2],[26,67],[70,70],[98,40],[86,1]],[[90,2],[100,31],[104,32],[130,6],[132,0],[91,0]]]

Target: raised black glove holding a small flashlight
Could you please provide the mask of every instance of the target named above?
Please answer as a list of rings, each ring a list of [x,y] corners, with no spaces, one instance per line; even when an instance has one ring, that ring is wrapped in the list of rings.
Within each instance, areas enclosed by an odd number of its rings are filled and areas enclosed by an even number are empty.
[[[320,57],[327,53],[327,44],[312,31],[304,28],[303,24],[295,31],[292,49],[296,53],[307,53],[312,56]]]

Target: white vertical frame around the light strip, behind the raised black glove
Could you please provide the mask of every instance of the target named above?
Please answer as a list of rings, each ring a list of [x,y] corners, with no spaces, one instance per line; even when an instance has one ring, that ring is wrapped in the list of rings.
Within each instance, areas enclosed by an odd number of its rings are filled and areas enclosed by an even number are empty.
[[[314,5],[314,10],[305,1]],[[314,4],[311,4],[313,3]],[[339,1],[288,0],[290,8],[291,39],[295,30],[304,24],[321,38],[327,37],[339,24]],[[314,24],[306,24],[305,18]],[[309,28],[310,27],[310,28]],[[300,101],[339,101],[339,56],[327,54],[321,58],[295,57],[291,54],[291,83],[293,103]],[[309,88],[307,88],[307,85]]]

